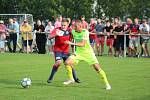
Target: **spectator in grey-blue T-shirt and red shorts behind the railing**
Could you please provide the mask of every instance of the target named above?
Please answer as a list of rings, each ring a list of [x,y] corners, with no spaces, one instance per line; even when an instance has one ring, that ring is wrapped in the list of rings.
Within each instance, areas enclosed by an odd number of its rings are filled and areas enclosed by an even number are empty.
[[[95,26],[95,31],[97,34],[97,39],[96,39],[96,49],[98,56],[102,56],[104,52],[104,41],[105,41],[105,36],[104,36],[104,25],[101,22],[101,19],[97,19],[97,24]]]

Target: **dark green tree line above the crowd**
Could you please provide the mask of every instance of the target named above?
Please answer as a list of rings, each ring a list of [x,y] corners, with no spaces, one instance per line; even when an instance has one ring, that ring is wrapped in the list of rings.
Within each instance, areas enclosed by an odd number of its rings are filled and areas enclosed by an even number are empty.
[[[28,13],[34,19],[53,19],[57,15],[150,17],[149,0],[0,0],[0,7],[1,14]]]

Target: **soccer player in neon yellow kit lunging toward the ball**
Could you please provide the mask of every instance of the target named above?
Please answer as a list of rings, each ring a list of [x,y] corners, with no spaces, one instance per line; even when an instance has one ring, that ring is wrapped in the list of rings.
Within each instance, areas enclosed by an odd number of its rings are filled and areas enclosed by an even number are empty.
[[[72,68],[74,64],[77,64],[79,61],[86,61],[89,65],[92,65],[93,68],[97,71],[98,75],[104,81],[106,85],[106,90],[110,90],[111,86],[107,80],[105,72],[101,69],[99,62],[94,54],[94,51],[89,43],[89,32],[86,29],[82,28],[81,21],[77,20],[75,23],[75,30],[72,30],[73,38],[75,43],[70,41],[65,41],[66,44],[75,45],[76,51],[71,55],[66,61],[66,68],[68,74],[68,80],[63,84],[68,85],[74,83]]]

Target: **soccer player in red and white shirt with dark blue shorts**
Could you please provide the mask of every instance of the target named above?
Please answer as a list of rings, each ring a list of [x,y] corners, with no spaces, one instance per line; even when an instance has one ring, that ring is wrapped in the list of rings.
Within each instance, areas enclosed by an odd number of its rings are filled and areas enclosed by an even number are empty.
[[[69,29],[69,21],[67,19],[63,19],[60,28],[56,28],[49,35],[49,39],[55,38],[54,45],[54,55],[55,55],[55,64],[53,65],[51,74],[47,80],[48,83],[51,83],[55,73],[58,70],[58,67],[62,63],[62,60],[65,62],[69,57],[69,44],[65,44],[65,41],[71,40],[71,30]],[[75,70],[72,69],[72,74],[75,82],[79,83],[79,79],[76,77]]]

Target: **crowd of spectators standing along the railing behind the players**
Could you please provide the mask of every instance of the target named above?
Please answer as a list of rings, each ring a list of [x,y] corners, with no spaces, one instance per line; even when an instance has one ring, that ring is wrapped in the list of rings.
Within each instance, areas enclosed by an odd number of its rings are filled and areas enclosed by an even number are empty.
[[[59,16],[54,23],[48,21],[47,25],[43,24],[41,20],[37,20],[34,27],[26,19],[19,24],[17,18],[10,18],[7,25],[3,20],[0,20],[0,53],[19,51],[53,54],[56,40],[47,37],[51,35],[54,29],[61,27],[62,19],[63,17]],[[69,29],[74,29],[76,20],[67,19]],[[107,54],[109,56],[122,57],[125,46],[129,57],[150,56],[148,48],[150,23],[146,19],[127,18],[125,22],[122,22],[119,17],[115,17],[113,20],[91,18],[88,23],[83,15],[81,21],[82,27],[90,32],[89,42],[97,56],[104,55],[105,43],[108,47]],[[125,46],[124,36],[126,36]]]

